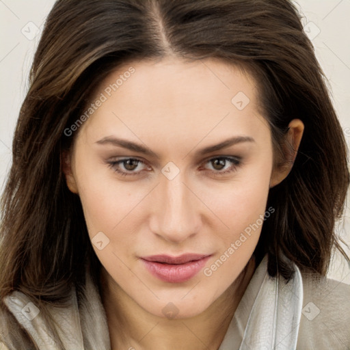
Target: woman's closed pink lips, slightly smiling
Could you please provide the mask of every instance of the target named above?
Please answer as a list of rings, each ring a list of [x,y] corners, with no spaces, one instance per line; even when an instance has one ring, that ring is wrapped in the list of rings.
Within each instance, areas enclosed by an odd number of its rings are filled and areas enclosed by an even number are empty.
[[[164,282],[180,283],[193,278],[210,255],[183,254],[181,256],[154,255],[142,258],[146,269]]]

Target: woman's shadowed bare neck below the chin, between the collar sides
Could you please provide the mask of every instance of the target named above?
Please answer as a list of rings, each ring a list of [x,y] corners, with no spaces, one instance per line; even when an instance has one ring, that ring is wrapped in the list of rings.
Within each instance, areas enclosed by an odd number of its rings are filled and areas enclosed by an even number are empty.
[[[141,308],[102,268],[101,297],[111,349],[219,349],[255,269],[252,258],[230,287],[196,317],[167,319]]]

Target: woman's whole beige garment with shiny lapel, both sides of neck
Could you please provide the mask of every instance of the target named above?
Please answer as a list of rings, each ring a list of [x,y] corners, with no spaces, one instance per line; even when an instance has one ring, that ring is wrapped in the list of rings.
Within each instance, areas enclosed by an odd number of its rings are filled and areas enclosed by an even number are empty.
[[[350,286],[301,274],[294,267],[295,274],[286,283],[283,278],[269,277],[267,256],[263,258],[218,350],[350,350]],[[10,324],[21,325],[38,349],[57,349],[35,301],[15,291],[4,304],[7,310],[0,315],[0,331],[8,342],[0,350],[29,349],[16,347],[25,340],[10,341]],[[70,307],[51,307],[49,312],[59,325],[65,349],[111,350],[105,310],[90,278],[79,306],[73,288]]]

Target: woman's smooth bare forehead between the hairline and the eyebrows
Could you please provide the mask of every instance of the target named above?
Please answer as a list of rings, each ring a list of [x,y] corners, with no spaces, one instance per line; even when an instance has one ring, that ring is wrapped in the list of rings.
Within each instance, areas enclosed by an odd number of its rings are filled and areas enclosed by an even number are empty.
[[[215,133],[229,136],[266,126],[252,76],[220,59],[128,62],[100,83],[92,102],[102,95],[104,102],[87,121],[96,137],[113,129],[147,133],[148,139],[159,133],[184,139],[210,133],[210,141]]]

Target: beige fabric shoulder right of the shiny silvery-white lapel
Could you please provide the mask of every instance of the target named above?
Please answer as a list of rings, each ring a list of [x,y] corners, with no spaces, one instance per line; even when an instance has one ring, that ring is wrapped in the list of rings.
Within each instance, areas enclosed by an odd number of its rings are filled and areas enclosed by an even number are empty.
[[[304,300],[298,350],[350,349],[350,285],[301,273]]]

